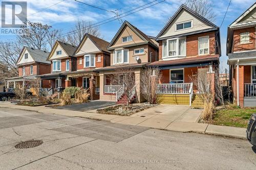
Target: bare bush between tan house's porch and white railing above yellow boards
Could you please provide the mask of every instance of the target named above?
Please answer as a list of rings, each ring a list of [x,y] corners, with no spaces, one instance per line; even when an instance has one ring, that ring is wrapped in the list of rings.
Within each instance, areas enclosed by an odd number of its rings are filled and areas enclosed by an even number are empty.
[[[142,71],[140,79],[142,95],[150,104],[160,102],[160,97],[157,95],[157,84],[161,77],[161,71],[157,67],[147,67]]]

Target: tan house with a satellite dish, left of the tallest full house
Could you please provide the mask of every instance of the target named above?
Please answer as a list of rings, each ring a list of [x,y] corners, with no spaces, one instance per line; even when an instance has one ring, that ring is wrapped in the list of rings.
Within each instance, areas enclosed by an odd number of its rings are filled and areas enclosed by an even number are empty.
[[[111,75],[118,74],[119,68],[132,68],[134,72],[137,102],[143,102],[140,90],[140,74],[148,63],[158,60],[158,43],[155,37],[147,36],[128,21],[124,21],[107,50],[110,51],[110,66],[96,69],[100,77],[100,100],[117,101],[122,99],[122,84],[111,80]]]

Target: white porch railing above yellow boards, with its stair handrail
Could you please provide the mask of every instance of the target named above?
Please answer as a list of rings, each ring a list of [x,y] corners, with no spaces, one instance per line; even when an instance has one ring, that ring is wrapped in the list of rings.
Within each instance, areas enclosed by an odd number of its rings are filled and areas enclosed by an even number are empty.
[[[157,84],[158,94],[189,94],[189,106],[193,98],[193,83]]]

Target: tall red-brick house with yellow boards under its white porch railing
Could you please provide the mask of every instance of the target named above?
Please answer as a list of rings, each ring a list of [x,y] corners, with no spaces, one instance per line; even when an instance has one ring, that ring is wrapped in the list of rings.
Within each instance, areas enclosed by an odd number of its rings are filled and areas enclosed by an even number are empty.
[[[155,39],[159,61],[149,64],[162,71],[158,85],[166,104],[198,105],[189,77],[209,65],[218,67],[221,56],[219,27],[185,5],[167,22]],[[197,104],[196,104],[197,103]],[[200,105],[200,104],[199,104]]]

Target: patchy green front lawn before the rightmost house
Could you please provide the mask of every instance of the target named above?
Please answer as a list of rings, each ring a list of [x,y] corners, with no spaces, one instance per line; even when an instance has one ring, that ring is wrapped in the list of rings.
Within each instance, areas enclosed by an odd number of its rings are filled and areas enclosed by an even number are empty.
[[[209,122],[214,125],[247,128],[248,120],[256,108],[228,108],[217,110],[214,119]]]

